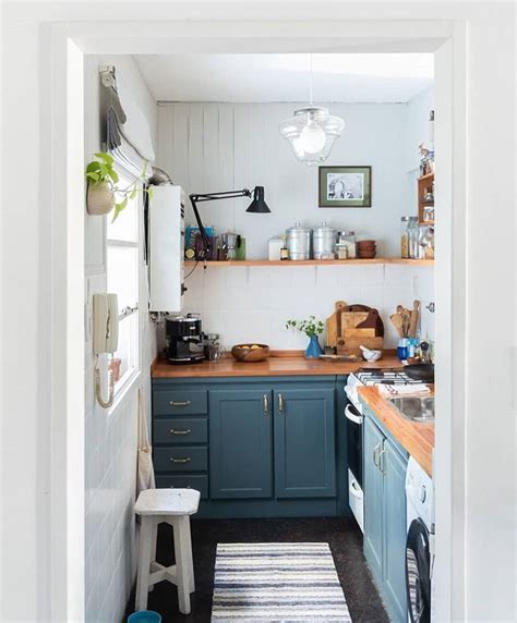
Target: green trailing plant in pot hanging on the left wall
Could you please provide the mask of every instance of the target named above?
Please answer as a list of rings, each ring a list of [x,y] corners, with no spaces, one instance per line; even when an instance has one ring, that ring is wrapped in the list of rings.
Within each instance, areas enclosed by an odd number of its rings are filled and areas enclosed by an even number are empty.
[[[120,212],[128,205],[129,199],[134,199],[136,193],[146,193],[153,198],[153,186],[145,186],[147,181],[147,160],[144,161],[144,170],[141,176],[125,188],[120,188],[119,174],[113,169],[113,158],[109,154],[98,151],[95,154],[96,160],[92,160],[86,166],[85,176],[88,182],[86,195],[86,208],[89,215],[107,215],[113,210],[113,222]],[[143,182],[144,186],[139,186],[139,181]],[[117,201],[117,198],[120,200]]]

